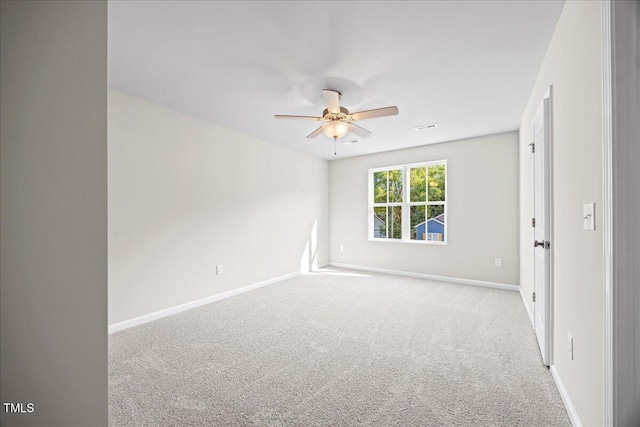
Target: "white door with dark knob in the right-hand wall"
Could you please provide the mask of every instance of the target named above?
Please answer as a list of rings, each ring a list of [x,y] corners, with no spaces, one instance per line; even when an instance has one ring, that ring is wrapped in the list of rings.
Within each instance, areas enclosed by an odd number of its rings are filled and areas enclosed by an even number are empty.
[[[550,363],[550,92],[542,100],[533,118],[533,274],[534,329],[542,361]]]

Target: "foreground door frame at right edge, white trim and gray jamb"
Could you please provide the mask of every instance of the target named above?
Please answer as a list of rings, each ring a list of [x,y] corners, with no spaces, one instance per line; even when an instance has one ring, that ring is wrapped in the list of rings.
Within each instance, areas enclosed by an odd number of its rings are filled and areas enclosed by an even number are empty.
[[[634,65],[640,54],[634,46],[640,23],[633,19],[640,4],[602,1],[603,80],[603,256],[604,256],[604,425],[640,423],[637,404],[640,355],[636,319],[640,292],[635,284],[637,264],[626,254],[640,252],[640,212],[637,141],[640,71]],[[621,255],[619,255],[621,254]],[[630,322],[631,320],[631,322]]]

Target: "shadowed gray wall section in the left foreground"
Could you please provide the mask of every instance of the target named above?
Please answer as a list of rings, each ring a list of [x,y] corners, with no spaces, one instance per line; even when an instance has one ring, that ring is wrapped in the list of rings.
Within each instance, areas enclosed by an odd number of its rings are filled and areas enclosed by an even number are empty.
[[[0,424],[106,425],[107,2],[0,27]]]

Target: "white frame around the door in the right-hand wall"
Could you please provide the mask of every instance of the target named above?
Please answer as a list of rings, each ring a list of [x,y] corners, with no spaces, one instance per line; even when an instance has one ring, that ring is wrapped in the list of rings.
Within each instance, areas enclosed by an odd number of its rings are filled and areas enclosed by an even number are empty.
[[[544,112],[544,103],[545,101],[547,102],[548,105],[548,111],[545,114]],[[546,345],[547,345],[547,353],[548,353],[548,365],[547,366],[551,366],[553,365],[553,361],[554,361],[554,334],[553,334],[553,324],[554,324],[554,296],[553,296],[553,277],[554,277],[554,226],[553,226],[553,85],[549,85],[549,88],[547,89],[547,91],[545,92],[544,96],[542,97],[542,99],[540,100],[540,104],[543,107],[543,118],[544,118],[544,126],[547,128],[546,129],[546,137],[547,137],[547,149],[545,150],[545,156],[546,156],[546,168],[545,168],[545,173],[547,175],[548,178],[548,192],[545,195],[545,202],[547,203],[547,206],[549,207],[549,218],[547,223],[546,223],[546,227],[548,229],[548,236],[549,236],[549,242],[550,242],[550,246],[549,246],[549,263],[547,265],[547,268],[549,270],[549,283],[548,283],[548,287],[546,289],[545,292],[545,313],[548,313],[548,322],[545,325],[545,340],[546,340]],[[547,123],[548,122],[548,123]],[[535,135],[533,135],[533,132],[535,132],[535,130],[533,129],[532,126],[532,140],[535,141]],[[535,146],[534,146],[535,148]],[[532,154],[532,159],[531,159],[531,163],[532,163],[532,177],[534,176],[533,174],[535,174],[535,156],[534,153]],[[531,182],[531,190],[532,190],[532,194],[533,194],[533,190],[535,188],[535,181],[532,179]],[[533,202],[534,204],[532,205],[532,210],[533,212],[535,212],[535,200]],[[532,212],[532,215],[533,215]],[[533,239],[535,239],[535,234],[534,234],[534,230],[532,227],[532,231],[531,231],[531,236],[532,236],[532,241]],[[532,259],[533,259],[533,273],[534,273],[534,277],[533,277],[533,291],[535,292],[535,247],[532,247],[532,251],[531,251],[531,255],[532,255]],[[533,330],[534,333],[536,333],[536,329],[535,329],[535,316],[536,316],[536,308],[535,308],[535,303],[533,305]],[[537,338],[536,338],[537,339]],[[543,357],[544,359],[544,357]]]

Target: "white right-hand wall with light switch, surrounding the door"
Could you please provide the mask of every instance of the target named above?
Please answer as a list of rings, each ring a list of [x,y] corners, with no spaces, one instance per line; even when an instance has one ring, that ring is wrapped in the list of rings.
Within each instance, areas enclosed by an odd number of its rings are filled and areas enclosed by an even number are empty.
[[[531,158],[525,148],[536,109],[553,84],[552,358],[585,426],[604,422],[601,27],[599,1],[565,3],[520,127],[520,283],[531,295]],[[589,202],[596,203],[595,231],[582,228],[582,205]]]

